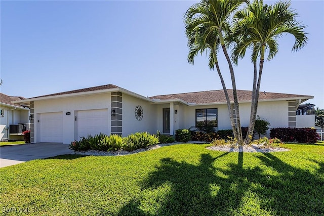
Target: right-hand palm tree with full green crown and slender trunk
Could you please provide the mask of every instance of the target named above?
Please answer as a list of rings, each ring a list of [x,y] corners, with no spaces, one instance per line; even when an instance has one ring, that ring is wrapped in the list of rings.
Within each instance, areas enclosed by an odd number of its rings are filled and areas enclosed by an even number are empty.
[[[263,4],[262,0],[254,0],[248,3],[247,7],[238,11],[234,15],[234,38],[236,45],[232,52],[232,58],[237,63],[237,59],[243,58],[247,49],[252,49],[251,59],[254,63],[254,86],[252,91],[251,117],[248,134],[245,143],[249,143],[252,138],[260,93],[261,76],[265,54],[267,60],[271,60],[278,53],[277,39],[285,33],[295,37],[295,44],[292,51],[296,52],[307,43],[307,36],[304,28],[296,21],[297,13],[290,8],[290,2],[278,2],[273,6]],[[259,74],[256,75],[256,61],[260,59]]]

